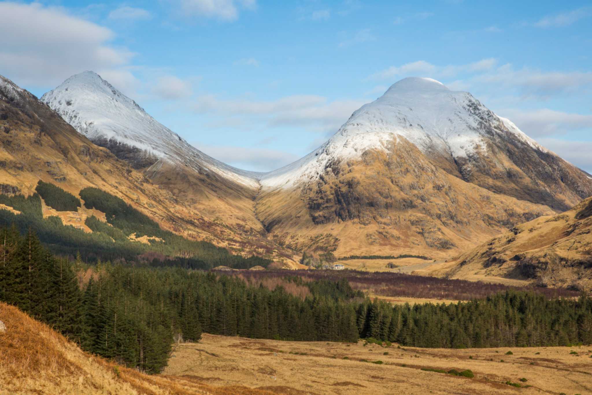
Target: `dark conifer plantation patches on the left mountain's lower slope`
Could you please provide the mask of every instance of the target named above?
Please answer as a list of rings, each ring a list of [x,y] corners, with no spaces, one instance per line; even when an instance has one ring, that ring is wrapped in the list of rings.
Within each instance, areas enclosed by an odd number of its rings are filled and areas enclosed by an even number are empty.
[[[92,233],[73,226],[65,226],[60,217],[43,218],[41,197],[47,205],[57,211],[76,211],[80,200],[53,184],[38,182],[37,193],[24,195],[0,194],[0,203],[20,211],[20,214],[0,209],[0,226],[14,224],[21,233],[33,229],[39,239],[53,253],[75,256],[80,253],[85,262],[103,261],[147,261],[146,253],[156,253],[160,258],[152,258],[148,264],[156,266],[184,265],[191,269],[211,269],[226,265],[231,268],[250,268],[255,265],[267,267],[270,259],[257,256],[245,258],[233,255],[227,249],[212,243],[185,239],[159,225],[121,198],[101,191],[98,188],[84,188],[80,194],[85,207],[96,208],[105,213],[107,223],[90,216],[85,220]],[[111,226],[110,226],[111,225]],[[132,233],[136,237],[155,236],[162,241],[151,239],[149,244],[133,242],[128,239]]]

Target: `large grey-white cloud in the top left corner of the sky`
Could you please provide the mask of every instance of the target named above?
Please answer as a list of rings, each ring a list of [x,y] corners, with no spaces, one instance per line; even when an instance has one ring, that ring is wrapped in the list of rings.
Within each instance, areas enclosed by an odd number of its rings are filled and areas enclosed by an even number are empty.
[[[120,68],[134,56],[109,44],[111,30],[62,8],[0,2],[0,15],[0,70],[20,85],[56,86],[83,70]]]

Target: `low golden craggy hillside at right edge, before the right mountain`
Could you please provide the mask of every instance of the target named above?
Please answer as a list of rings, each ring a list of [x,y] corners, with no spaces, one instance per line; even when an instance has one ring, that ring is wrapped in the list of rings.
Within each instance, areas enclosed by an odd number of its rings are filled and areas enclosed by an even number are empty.
[[[417,274],[507,278],[551,287],[592,289],[592,198],[569,211],[513,227],[452,261]]]

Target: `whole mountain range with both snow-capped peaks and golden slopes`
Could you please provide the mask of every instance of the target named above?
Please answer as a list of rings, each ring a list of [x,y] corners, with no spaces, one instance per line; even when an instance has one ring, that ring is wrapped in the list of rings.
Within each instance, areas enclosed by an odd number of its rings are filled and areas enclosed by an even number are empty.
[[[271,172],[211,158],[90,71],[40,99],[0,76],[0,132],[0,211],[12,219],[43,183],[80,203],[60,209],[41,196],[44,220],[113,243],[179,236],[279,268],[307,268],[303,253],[414,254],[436,261],[422,274],[591,281],[591,176],[430,78],[396,82],[318,149]],[[121,200],[135,222],[115,224],[87,204],[85,188]],[[172,259],[192,246],[133,251]]]

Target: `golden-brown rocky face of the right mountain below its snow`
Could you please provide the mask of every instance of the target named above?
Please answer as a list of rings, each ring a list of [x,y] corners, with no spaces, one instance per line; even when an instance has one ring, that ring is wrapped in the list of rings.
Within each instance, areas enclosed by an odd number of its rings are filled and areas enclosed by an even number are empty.
[[[463,181],[400,137],[301,189],[263,191],[256,213],[295,250],[444,259],[554,211]]]

